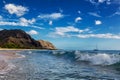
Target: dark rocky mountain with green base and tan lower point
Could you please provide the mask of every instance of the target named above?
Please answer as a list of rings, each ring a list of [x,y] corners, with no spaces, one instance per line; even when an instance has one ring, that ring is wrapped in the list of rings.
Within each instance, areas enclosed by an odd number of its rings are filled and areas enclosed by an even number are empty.
[[[0,31],[0,47],[20,49],[56,49],[52,43],[44,40],[36,41],[25,31],[20,29]]]

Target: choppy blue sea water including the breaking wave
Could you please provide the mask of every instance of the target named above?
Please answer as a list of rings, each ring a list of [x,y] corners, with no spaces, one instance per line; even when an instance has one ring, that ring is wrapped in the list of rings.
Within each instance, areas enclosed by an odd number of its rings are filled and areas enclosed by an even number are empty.
[[[0,80],[120,80],[120,51],[23,51]],[[115,66],[114,66],[115,64]]]

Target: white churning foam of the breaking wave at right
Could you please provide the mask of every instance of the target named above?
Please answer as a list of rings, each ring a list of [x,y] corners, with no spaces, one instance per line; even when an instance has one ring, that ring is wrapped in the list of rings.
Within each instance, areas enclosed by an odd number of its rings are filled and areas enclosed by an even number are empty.
[[[120,61],[120,55],[107,53],[80,53],[75,52],[76,58],[82,61],[89,61],[94,65],[111,65]]]

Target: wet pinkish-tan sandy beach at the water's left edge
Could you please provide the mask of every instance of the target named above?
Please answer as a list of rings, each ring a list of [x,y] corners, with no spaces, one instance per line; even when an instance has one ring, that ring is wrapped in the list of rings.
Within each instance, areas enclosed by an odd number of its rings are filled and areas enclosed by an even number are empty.
[[[0,74],[3,74],[15,67],[10,60],[16,58],[23,58],[23,55],[18,52],[23,51],[22,49],[0,49]]]

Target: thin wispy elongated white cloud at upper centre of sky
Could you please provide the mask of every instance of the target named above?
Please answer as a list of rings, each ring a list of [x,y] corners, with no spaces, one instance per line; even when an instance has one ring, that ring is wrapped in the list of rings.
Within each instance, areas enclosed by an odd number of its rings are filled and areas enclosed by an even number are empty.
[[[52,14],[40,14],[38,17],[41,19],[56,20],[64,17],[64,15],[62,13],[52,13]]]

